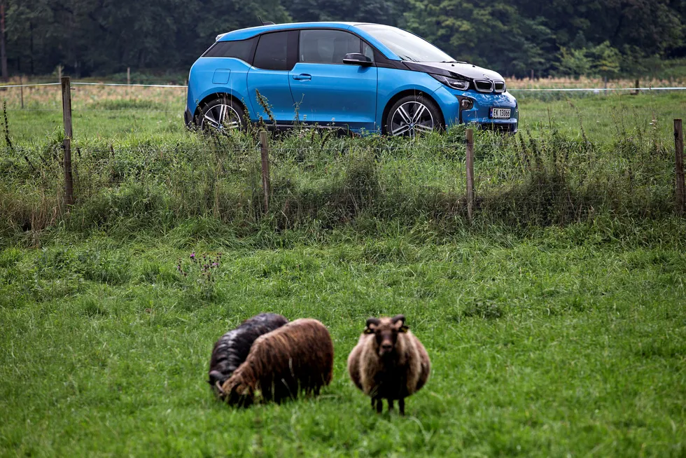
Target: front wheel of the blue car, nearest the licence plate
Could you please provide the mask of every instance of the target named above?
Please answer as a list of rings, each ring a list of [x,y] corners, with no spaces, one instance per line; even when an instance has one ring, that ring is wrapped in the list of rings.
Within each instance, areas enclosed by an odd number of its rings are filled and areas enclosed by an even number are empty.
[[[426,95],[407,95],[399,99],[386,114],[384,134],[416,137],[417,134],[442,130],[443,115],[440,108]]]

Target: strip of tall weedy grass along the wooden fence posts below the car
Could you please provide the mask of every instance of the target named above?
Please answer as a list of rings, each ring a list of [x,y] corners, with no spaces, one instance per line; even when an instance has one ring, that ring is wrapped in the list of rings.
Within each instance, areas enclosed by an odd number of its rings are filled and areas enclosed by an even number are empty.
[[[335,228],[360,216],[442,233],[468,225],[464,127],[419,139],[335,137],[299,128],[269,139],[272,194],[262,214],[257,130],[189,134],[174,143],[75,142],[74,195],[62,207],[59,136],[6,146],[0,162],[0,233],[36,237],[64,225],[128,234],[205,218],[239,234]],[[617,126],[602,143],[554,129],[477,132],[475,227],[566,225],[671,212],[671,153],[656,130]],[[474,227],[472,226],[472,227]]]

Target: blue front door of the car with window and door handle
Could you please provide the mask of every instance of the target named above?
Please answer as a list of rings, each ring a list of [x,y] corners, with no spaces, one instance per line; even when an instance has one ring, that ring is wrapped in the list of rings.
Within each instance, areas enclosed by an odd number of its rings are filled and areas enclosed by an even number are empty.
[[[290,71],[290,92],[300,120],[319,125],[374,127],[377,67],[344,64],[347,53],[366,53],[358,36],[337,29],[302,29],[297,63]]]

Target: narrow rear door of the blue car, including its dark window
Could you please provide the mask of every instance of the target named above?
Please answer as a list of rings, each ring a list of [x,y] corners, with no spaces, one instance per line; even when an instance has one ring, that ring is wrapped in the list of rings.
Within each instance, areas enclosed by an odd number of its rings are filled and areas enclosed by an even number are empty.
[[[255,113],[269,123],[265,105],[269,106],[276,123],[290,124],[295,118],[293,95],[290,93],[288,71],[295,64],[297,31],[271,32],[260,35],[253,67],[248,71],[246,101]],[[258,97],[258,93],[261,97]],[[261,102],[260,102],[261,99]]]

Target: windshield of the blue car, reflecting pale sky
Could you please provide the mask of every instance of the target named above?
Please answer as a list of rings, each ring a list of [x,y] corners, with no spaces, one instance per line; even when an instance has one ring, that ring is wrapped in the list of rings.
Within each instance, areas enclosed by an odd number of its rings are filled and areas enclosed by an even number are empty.
[[[413,62],[455,62],[455,60],[426,40],[387,25],[363,24],[360,29],[384,43],[402,60]]]

